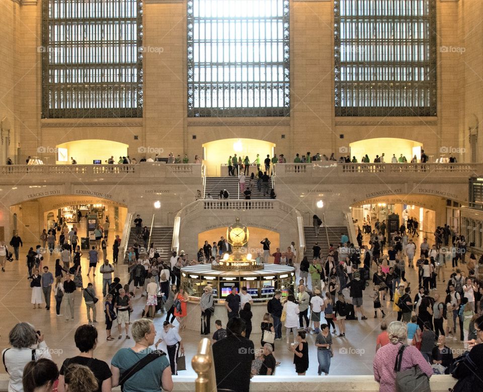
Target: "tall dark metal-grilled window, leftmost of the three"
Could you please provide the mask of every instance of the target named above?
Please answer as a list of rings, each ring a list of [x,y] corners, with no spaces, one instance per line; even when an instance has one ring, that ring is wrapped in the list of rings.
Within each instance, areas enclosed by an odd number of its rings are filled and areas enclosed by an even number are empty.
[[[142,0],[42,2],[42,118],[141,118]]]

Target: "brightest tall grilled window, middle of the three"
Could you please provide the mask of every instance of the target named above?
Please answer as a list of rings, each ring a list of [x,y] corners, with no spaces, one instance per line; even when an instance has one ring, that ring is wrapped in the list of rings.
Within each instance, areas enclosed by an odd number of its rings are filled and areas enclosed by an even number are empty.
[[[289,0],[188,0],[187,15],[188,117],[290,116]]]

